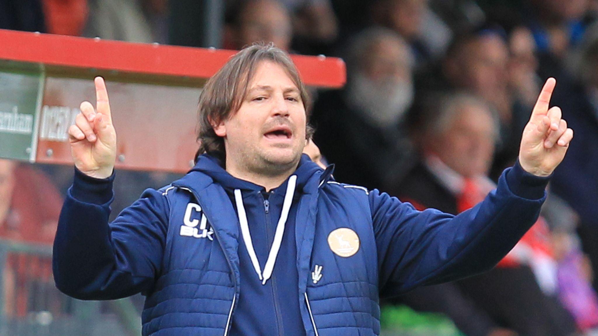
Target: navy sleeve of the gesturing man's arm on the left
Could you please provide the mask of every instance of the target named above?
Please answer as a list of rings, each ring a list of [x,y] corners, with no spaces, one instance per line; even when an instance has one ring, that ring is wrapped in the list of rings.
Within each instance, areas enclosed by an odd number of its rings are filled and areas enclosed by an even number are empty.
[[[75,171],[54,239],[54,281],[81,300],[112,300],[151,289],[166,243],[169,205],[146,190],[110,224],[114,175]]]

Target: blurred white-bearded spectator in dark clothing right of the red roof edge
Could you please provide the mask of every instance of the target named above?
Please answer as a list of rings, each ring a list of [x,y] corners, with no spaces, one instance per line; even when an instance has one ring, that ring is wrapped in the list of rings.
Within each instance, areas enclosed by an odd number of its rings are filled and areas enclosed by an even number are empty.
[[[314,140],[340,181],[384,190],[407,169],[412,68],[410,49],[392,30],[365,30],[350,45],[346,87],[322,94],[312,118]]]

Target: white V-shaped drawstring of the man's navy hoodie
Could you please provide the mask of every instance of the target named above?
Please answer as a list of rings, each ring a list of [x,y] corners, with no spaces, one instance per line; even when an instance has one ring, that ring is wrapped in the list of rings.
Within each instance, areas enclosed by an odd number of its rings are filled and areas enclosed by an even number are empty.
[[[254,265],[255,273],[258,274],[262,285],[266,285],[266,281],[272,276],[274,271],[274,262],[276,262],[276,256],[280,250],[280,244],[282,244],[282,234],[285,232],[286,219],[289,216],[289,210],[291,210],[291,203],[295,194],[295,186],[297,185],[297,175],[291,175],[289,182],[286,185],[285,200],[282,203],[282,213],[280,213],[280,219],[276,225],[276,233],[274,233],[274,242],[272,242],[272,248],[268,253],[268,259],[266,265],[264,265],[264,273],[262,274],[260,268],[260,262],[258,257],[255,255],[254,244],[251,240],[251,233],[249,233],[249,225],[247,222],[247,213],[245,212],[245,206],[243,206],[243,197],[240,189],[234,190],[234,201],[237,206],[237,213],[239,214],[239,224],[241,225],[241,234],[243,236],[243,242],[249,253],[249,259]]]

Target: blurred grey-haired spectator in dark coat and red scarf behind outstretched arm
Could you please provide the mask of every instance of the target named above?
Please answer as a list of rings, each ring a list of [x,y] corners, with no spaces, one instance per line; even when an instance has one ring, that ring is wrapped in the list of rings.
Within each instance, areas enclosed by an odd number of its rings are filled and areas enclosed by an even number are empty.
[[[457,214],[494,188],[487,173],[498,123],[483,100],[468,94],[440,97],[429,106],[417,139],[422,160],[393,193],[419,209],[434,207]],[[572,317],[556,297],[542,292],[538,274],[529,267],[533,262],[524,262],[527,255],[522,258],[520,253],[546,253],[544,236],[539,235],[544,233],[542,225],[542,221],[534,225],[526,234],[526,246],[515,246],[501,261],[502,267],[461,280],[459,285],[496,323],[520,334],[571,335],[576,331]]]

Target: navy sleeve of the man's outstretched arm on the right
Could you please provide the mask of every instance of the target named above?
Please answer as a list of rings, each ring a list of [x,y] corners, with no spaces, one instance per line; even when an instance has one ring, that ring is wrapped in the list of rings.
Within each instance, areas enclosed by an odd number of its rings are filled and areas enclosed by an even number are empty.
[[[494,267],[538,219],[548,180],[517,163],[502,173],[498,187],[484,201],[457,216],[436,209],[420,212],[372,191],[382,296]]]

